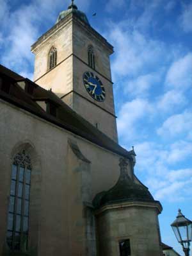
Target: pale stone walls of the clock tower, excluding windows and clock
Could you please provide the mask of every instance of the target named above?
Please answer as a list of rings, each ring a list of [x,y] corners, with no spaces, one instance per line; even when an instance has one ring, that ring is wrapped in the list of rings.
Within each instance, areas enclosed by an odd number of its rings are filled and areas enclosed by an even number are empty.
[[[88,67],[88,46],[95,53],[95,71]],[[57,65],[47,69],[51,47],[57,49]],[[56,93],[74,111],[90,123],[99,126],[114,141],[118,141],[116,130],[113,83],[109,55],[111,49],[95,33],[90,33],[83,22],[68,17],[62,26],[56,26],[49,36],[40,40],[33,48],[35,53],[34,80],[41,87]],[[92,71],[106,89],[106,99],[98,102],[86,91],[83,74]]]

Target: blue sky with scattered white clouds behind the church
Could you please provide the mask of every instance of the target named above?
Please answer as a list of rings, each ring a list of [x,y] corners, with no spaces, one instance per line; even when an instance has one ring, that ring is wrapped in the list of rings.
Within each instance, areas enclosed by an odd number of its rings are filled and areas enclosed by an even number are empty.
[[[170,223],[192,219],[192,3],[76,0],[111,56],[120,144],[134,145],[135,173],[161,201],[161,235],[181,253]],[[33,78],[30,46],[70,0],[0,0],[0,62]],[[97,12],[95,17],[92,13]]]

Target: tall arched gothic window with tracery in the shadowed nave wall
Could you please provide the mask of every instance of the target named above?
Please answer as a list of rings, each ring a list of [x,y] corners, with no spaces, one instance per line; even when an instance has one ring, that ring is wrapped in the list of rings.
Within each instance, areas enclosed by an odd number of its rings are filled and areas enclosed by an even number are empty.
[[[6,242],[12,251],[26,251],[29,230],[31,159],[26,151],[15,155],[12,164]]]

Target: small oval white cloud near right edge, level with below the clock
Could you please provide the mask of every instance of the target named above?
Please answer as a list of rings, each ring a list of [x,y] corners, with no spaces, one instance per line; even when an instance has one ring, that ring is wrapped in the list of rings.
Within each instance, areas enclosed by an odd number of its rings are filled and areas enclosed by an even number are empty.
[[[163,112],[170,112],[174,107],[186,105],[187,99],[179,90],[169,90],[157,101],[157,108]]]

